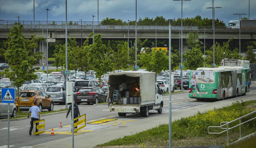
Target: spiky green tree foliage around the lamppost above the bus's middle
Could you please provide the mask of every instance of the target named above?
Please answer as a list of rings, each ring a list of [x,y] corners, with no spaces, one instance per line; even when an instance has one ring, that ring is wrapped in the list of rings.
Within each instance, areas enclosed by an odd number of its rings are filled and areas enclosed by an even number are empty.
[[[234,38],[230,38],[227,42],[223,42],[223,46],[220,46],[218,42],[215,43],[215,64],[220,65],[221,60],[224,58],[228,59],[241,59],[242,56],[239,55],[238,49],[234,49],[231,51],[229,49],[229,43]],[[213,46],[210,48],[210,50],[205,51],[206,54],[206,63],[207,64],[213,64]]]

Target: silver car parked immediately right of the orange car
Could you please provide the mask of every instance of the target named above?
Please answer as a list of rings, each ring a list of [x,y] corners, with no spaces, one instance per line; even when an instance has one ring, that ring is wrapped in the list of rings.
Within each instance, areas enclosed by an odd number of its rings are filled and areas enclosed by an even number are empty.
[[[46,93],[48,93],[54,103],[65,104],[66,102],[66,90],[62,86],[52,85],[47,87]]]

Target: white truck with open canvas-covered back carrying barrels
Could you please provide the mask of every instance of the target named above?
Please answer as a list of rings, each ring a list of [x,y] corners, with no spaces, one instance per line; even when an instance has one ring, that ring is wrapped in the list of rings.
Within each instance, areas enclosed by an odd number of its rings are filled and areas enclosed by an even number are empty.
[[[148,71],[124,71],[109,73],[108,108],[109,112],[140,113],[148,117],[149,110],[163,110],[163,97],[156,83],[156,73]]]

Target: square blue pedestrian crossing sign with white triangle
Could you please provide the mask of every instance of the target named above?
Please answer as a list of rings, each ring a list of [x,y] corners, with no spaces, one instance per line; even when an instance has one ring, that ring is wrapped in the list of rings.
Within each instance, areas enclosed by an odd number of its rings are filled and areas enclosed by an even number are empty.
[[[2,103],[14,103],[14,101],[15,101],[15,89],[2,88]]]

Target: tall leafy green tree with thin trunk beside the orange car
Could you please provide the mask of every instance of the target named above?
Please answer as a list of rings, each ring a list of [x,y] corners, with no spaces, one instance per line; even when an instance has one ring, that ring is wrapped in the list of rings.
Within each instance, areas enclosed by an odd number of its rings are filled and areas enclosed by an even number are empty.
[[[7,36],[8,48],[4,55],[8,60],[10,69],[5,69],[4,73],[10,81],[14,82],[14,86],[17,86],[18,90],[18,111],[19,111],[19,87],[25,83],[37,79],[37,75],[33,74],[39,67],[33,68],[33,63],[36,59],[33,56],[29,56],[29,52],[26,49],[25,39],[22,35],[22,25],[14,26],[10,29],[10,34]]]

